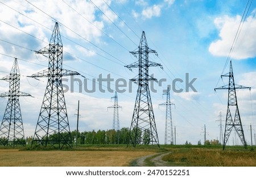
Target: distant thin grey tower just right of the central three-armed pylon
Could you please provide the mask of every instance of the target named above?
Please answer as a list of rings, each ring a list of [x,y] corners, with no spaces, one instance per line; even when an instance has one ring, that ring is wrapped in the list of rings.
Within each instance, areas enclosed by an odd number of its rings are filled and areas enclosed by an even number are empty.
[[[172,127],[172,111],[171,105],[175,105],[170,100],[170,89],[167,88],[166,102],[160,104],[159,106],[166,106],[166,130],[164,133],[164,144],[174,144],[174,130]]]

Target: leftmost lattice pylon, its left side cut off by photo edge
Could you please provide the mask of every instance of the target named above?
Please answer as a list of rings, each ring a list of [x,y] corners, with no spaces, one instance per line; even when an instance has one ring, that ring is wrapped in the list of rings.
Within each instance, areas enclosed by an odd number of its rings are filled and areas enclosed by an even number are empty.
[[[9,81],[9,92],[1,93],[0,97],[9,97],[5,115],[0,127],[0,144],[13,146],[20,144],[25,146],[22,114],[20,111],[19,97],[28,97],[30,94],[19,91],[20,72],[18,60],[15,58],[13,67],[8,76],[0,80]]]

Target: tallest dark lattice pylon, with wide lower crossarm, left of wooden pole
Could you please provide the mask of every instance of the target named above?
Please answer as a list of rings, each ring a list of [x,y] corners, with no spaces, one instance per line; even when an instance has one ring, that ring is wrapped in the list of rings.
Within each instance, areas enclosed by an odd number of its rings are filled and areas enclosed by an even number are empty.
[[[55,23],[49,45],[36,53],[47,53],[49,55],[49,64],[48,69],[30,76],[34,78],[48,78],[32,145],[49,145],[58,149],[64,147],[72,148],[62,77],[79,75],[79,73],[62,68],[63,44],[57,22]]]

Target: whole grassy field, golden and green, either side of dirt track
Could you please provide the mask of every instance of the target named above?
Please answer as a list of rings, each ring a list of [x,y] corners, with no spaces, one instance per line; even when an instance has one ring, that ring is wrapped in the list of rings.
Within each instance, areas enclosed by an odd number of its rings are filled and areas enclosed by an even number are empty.
[[[256,147],[82,145],[73,150],[30,150],[0,147],[0,166],[129,166],[133,160],[169,151],[163,160],[170,166],[256,166]],[[146,161],[151,163],[151,159]],[[148,164],[150,165],[150,164]],[[153,165],[153,164],[152,164]]]

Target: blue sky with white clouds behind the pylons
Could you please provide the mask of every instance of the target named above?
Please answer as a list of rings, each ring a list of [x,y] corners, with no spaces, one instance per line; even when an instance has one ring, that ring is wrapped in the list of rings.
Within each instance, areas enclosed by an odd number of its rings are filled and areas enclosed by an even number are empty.
[[[235,82],[252,88],[237,91],[243,129],[250,144],[250,124],[253,133],[256,131],[256,2],[248,2],[1,1],[0,77],[10,73],[17,57],[22,75],[20,91],[34,96],[20,97],[25,136],[34,135],[47,84],[46,78],[27,77],[48,66],[47,57],[36,55],[34,51],[48,45],[55,22],[59,22],[64,45],[63,68],[85,77],[75,76],[73,80],[65,77],[63,82],[71,130],[76,129],[78,100],[80,131],[112,129],[113,110],[107,107],[114,104],[110,98],[117,89],[122,106],[120,127],[130,127],[137,86],[129,83],[129,79],[137,76],[138,70],[129,71],[124,66],[137,61],[130,51],[137,49],[144,31],[148,46],[158,52],[158,56],[151,54],[150,60],[163,65],[163,70],[151,67],[149,71],[163,81],[161,85],[151,84],[159,142],[164,143],[165,107],[158,105],[166,100],[162,94],[167,85],[171,85],[171,101],[175,104],[172,121],[177,131],[177,144],[184,144],[186,140],[192,144],[203,142],[204,125],[207,139],[219,138],[220,127],[216,120],[220,111],[225,119],[228,91],[214,92],[214,88],[228,84],[228,78],[222,80],[220,76],[229,72],[229,65],[225,65],[229,56]],[[188,88],[187,92],[186,73],[188,82],[196,78],[192,84],[195,89]],[[109,86],[97,81],[100,76],[108,75],[113,78]],[[175,78],[184,82],[176,82],[174,88]],[[118,88],[116,84],[123,84],[121,81],[127,86]],[[92,90],[94,84],[95,91]],[[0,82],[1,92],[8,88],[8,82]],[[183,92],[177,93],[175,89],[183,89]],[[6,103],[7,98],[0,98],[0,118]],[[236,137],[232,133],[229,144],[233,144],[233,138]]]

